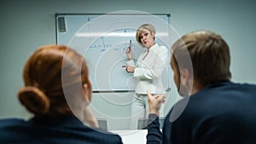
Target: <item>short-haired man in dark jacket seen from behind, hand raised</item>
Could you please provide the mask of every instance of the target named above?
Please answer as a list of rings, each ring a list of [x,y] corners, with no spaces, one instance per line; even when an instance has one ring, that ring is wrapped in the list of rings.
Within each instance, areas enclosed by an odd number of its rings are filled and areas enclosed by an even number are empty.
[[[161,133],[165,95],[148,91],[147,143],[256,142],[256,85],[230,81],[230,49],[222,37],[210,31],[184,35],[172,45],[171,66],[183,99],[168,112]]]

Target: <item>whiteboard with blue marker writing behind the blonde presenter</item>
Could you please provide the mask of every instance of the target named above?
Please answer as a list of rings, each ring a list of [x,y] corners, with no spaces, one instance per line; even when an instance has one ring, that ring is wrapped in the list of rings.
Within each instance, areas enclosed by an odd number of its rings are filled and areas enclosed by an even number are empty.
[[[170,52],[170,14],[112,13],[55,14],[56,43],[65,44],[84,56],[89,66],[93,92],[134,91],[137,79],[122,68],[125,49],[131,40],[134,59],[144,50],[136,41],[137,27],[144,23],[156,29],[155,41]],[[163,72],[163,84],[170,89],[170,55]]]

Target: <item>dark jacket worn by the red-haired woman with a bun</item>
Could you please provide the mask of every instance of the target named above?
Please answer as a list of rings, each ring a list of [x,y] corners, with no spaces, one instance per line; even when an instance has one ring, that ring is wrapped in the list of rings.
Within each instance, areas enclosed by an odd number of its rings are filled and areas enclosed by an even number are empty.
[[[0,120],[0,143],[121,144],[119,135],[91,129],[75,116]]]

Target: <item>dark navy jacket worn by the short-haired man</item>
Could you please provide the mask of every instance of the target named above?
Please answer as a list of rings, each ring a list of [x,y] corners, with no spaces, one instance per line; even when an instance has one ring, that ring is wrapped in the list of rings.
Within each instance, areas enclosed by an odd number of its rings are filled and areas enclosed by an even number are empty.
[[[178,101],[163,134],[157,116],[149,119],[148,143],[256,143],[256,85],[218,82]]]

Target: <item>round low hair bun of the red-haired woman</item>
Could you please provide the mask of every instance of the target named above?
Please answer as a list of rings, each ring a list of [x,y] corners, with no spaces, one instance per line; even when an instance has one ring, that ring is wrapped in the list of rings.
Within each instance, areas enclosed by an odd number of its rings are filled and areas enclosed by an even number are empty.
[[[49,98],[37,87],[28,86],[21,88],[18,97],[20,103],[36,115],[49,111]]]

